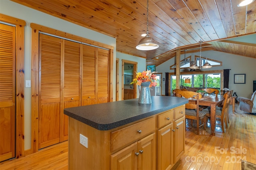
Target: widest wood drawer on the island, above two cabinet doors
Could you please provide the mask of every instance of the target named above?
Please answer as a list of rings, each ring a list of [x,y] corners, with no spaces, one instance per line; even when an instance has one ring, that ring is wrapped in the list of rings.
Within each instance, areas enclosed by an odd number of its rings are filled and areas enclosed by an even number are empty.
[[[139,140],[142,137],[145,137],[145,135],[154,132],[155,129],[156,118],[152,117],[139,123],[135,123],[134,125],[113,131],[110,136],[110,149],[113,151],[120,147],[124,147],[128,143]]]

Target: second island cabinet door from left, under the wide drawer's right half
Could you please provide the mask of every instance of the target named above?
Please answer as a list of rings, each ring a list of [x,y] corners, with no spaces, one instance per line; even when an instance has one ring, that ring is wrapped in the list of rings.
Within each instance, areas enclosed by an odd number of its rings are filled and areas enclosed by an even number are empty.
[[[138,141],[138,170],[156,169],[156,133]]]

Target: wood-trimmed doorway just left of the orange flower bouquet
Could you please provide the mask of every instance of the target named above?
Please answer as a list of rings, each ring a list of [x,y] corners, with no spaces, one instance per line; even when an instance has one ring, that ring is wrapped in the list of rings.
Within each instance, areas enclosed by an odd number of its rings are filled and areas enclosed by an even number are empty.
[[[137,96],[136,84],[130,84],[136,78],[137,62],[122,60],[122,100],[134,99]]]

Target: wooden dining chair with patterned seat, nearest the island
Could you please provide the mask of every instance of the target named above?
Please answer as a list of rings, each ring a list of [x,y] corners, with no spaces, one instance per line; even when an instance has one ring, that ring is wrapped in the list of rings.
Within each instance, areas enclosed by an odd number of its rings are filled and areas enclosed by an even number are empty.
[[[185,117],[186,119],[191,120],[191,124],[193,127],[193,120],[196,120],[196,131],[197,135],[199,135],[199,127],[204,126],[204,130],[206,130],[206,112],[199,111],[199,100],[202,98],[202,95],[197,92],[192,91],[179,91],[176,93],[177,97],[184,98],[194,98],[196,99],[196,104],[185,104]],[[199,124],[199,120],[201,120],[201,124]]]

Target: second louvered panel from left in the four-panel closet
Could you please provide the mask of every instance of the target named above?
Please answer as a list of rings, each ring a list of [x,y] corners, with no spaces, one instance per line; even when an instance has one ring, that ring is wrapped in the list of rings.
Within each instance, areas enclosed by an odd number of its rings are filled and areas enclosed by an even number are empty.
[[[80,106],[80,43],[64,41],[64,108]],[[62,109],[62,135],[68,140],[68,116]]]

